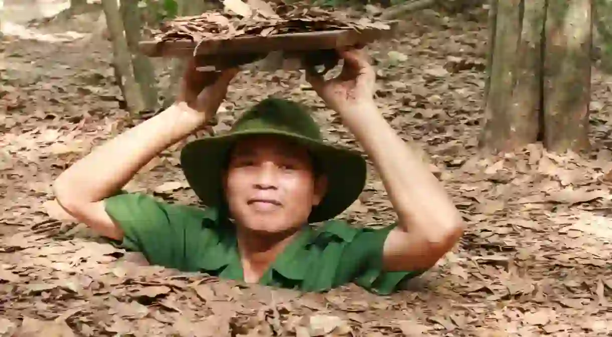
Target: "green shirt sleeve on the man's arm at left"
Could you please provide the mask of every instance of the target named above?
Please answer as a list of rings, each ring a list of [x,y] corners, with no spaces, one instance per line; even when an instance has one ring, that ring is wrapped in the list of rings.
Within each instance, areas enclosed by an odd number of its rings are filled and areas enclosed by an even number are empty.
[[[124,232],[122,247],[143,253],[151,264],[185,269],[185,251],[201,233],[203,210],[138,193],[105,199],[105,210]]]

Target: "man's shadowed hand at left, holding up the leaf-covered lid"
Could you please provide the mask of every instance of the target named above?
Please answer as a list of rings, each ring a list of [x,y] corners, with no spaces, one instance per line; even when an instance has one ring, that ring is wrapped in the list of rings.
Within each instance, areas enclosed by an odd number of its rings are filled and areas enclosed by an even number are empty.
[[[225,99],[230,81],[238,74],[237,68],[220,72],[201,72],[196,69],[195,58],[190,59],[181,80],[181,91],[176,101],[184,102],[195,112],[202,113],[205,121],[217,113]]]

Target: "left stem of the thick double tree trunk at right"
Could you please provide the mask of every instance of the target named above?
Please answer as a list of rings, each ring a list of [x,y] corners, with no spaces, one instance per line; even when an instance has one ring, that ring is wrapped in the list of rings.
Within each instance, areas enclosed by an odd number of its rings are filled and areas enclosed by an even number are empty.
[[[545,0],[497,0],[493,5],[485,131],[480,141],[493,151],[511,151],[537,140]]]

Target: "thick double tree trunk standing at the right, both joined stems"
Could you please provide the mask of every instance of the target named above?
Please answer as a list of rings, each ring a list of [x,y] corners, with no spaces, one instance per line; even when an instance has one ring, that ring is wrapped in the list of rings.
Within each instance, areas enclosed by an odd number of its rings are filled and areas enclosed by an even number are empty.
[[[491,0],[485,126],[480,146],[588,148],[591,4]]]

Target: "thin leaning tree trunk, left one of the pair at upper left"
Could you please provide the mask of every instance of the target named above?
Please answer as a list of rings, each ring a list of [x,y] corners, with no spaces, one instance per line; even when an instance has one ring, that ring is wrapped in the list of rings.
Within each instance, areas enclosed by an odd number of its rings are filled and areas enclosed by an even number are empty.
[[[144,100],[133,75],[132,57],[125,40],[119,6],[116,0],[102,0],[102,8],[113,44],[113,64],[119,75],[117,81],[121,83],[122,94],[130,112],[141,112],[144,110]]]

